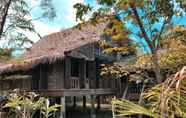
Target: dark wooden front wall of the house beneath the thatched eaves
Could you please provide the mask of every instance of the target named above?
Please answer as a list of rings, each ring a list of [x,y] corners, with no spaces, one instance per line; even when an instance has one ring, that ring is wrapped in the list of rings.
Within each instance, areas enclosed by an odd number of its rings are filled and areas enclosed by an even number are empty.
[[[71,74],[73,65],[72,60],[78,63],[78,75],[73,77]],[[74,63],[73,63],[74,64]],[[87,66],[88,65],[88,66]],[[63,89],[71,88],[71,79],[77,78],[78,88],[109,88],[110,79],[100,79],[98,72],[99,63],[96,61],[87,61],[84,58],[74,58],[66,56],[64,60],[58,60],[54,64],[39,65],[33,70],[33,89]],[[88,75],[87,75],[88,74]],[[102,83],[102,84],[101,84]]]

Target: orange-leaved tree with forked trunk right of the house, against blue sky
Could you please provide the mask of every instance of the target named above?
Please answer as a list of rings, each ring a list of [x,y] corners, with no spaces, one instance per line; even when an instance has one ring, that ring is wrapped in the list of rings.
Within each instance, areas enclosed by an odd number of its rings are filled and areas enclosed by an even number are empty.
[[[120,42],[125,42],[130,39],[130,41],[135,42],[139,47],[145,48],[145,52],[152,54],[152,66],[157,82],[160,83],[162,77],[157,51],[161,49],[161,40],[164,39],[164,34],[177,25],[174,19],[185,16],[185,1],[97,0],[97,3],[100,7],[93,11],[91,20],[99,20],[99,18],[105,16],[112,16],[110,19],[112,27],[108,27],[108,29],[105,30],[106,33],[112,37],[112,41],[119,40]],[[82,6],[86,7],[86,5]],[[83,19],[82,14],[87,14],[91,9],[86,9],[85,12],[81,10],[77,8],[76,14],[80,20]],[[119,20],[120,23],[115,23],[116,19]],[[177,32],[176,34],[178,35],[179,33]],[[108,45],[109,41],[103,41],[101,44],[103,47],[107,47],[104,51],[109,53],[126,52],[130,48],[128,47],[130,45],[123,45],[123,43],[122,45],[115,45],[115,47],[113,47]]]

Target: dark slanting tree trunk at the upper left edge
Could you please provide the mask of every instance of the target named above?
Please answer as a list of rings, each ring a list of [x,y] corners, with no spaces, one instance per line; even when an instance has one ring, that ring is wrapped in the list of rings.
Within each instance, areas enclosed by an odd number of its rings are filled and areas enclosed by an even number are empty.
[[[9,0],[7,3],[5,3],[4,5],[4,10],[3,10],[3,13],[2,13],[2,18],[0,19],[0,39],[2,37],[2,34],[3,34],[3,29],[4,29],[4,26],[5,26],[5,22],[6,22],[6,18],[7,18],[7,15],[8,15],[8,10],[10,8],[10,4],[11,4],[12,0]]]

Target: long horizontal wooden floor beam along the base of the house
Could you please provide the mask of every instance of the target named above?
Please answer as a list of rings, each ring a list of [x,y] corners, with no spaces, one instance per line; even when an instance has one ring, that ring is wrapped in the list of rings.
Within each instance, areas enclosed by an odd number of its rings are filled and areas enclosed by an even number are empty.
[[[82,95],[115,95],[115,89],[60,89],[60,90],[40,90],[41,96],[82,96]]]

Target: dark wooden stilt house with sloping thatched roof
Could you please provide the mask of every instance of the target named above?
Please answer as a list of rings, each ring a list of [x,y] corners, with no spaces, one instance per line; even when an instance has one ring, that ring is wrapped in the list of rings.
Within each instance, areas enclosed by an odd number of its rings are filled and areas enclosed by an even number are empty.
[[[114,59],[101,54],[96,43],[104,37],[105,27],[106,23],[87,23],[44,36],[21,59],[0,65],[2,78],[19,79],[1,79],[1,89],[21,88],[55,97],[113,94],[115,80],[99,76],[100,63]]]

